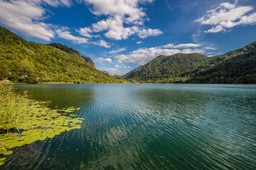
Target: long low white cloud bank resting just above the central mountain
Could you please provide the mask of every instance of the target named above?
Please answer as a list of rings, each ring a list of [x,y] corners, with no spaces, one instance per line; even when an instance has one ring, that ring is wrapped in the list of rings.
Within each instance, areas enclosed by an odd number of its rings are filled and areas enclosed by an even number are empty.
[[[170,49],[170,44],[163,45],[163,46],[156,46],[152,48],[140,48],[137,50],[134,50],[133,52],[130,52],[129,54],[122,54],[119,56],[115,56],[114,58],[117,59],[120,63],[139,63],[141,65],[147,63],[148,61],[151,61],[156,56],[159,55],[165,55],[170,56],[172,54],[176,53],[205,53],[205,50],[203,49],[197,49],[195,47],[199,47],[199,44],[178,44],[173,45],[172,48],[176,49]],[[193,49],[191,49],[191,47]]]

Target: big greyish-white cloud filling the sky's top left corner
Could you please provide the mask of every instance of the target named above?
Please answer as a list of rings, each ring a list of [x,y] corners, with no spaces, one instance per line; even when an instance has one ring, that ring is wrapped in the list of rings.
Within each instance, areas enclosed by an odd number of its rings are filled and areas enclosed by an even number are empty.
[[[52,7],[71,7],[71,0],[0,0],[0,23],[12,31],[20,32],[32,39],[50,41],[55,33],[52,24],[43,22],[46,9],[44,5]]]

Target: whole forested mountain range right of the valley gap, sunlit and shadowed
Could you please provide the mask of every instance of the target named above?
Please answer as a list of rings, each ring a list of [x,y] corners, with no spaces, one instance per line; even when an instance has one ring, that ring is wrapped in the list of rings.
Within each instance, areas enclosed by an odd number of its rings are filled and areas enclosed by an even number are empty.
[[[158,56],[123,75],[148,83],[256,83],[256,41],[226,54]]]

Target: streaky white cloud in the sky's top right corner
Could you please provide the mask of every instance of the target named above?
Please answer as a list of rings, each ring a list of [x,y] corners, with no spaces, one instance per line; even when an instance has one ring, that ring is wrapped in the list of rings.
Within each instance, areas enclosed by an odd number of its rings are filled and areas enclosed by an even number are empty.
[[[226,28],[233,28],[237,25],[247,25],[256,23],[256,12],[246,15],[253,10],[253,6],[237,6],[235,3],[221,3],[215,9],[207,11],[207,15],[195,20],[203,25],[213,25],[205,33],[216,33],[226,31]]]

